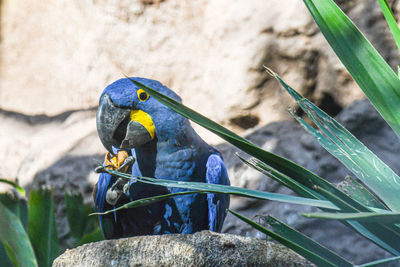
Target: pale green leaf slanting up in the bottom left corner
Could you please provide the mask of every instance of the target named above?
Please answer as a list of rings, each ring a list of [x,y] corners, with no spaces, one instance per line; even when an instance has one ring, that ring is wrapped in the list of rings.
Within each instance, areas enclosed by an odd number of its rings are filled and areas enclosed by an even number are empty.
[[[19,218],[0,202],[0,240],[15,266],[38,266]]]

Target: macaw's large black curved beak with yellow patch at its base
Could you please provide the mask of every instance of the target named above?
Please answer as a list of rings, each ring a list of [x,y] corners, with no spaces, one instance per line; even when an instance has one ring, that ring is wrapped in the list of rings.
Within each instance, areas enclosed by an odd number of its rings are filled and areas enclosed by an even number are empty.
[[[151,117],[133,116],[137,111],[114,105],[109,95],[105,94],[97,109],[97,132],[104,147],[113,153],[112,147],[131,149],[141,146],[154,138],[154,124]]]

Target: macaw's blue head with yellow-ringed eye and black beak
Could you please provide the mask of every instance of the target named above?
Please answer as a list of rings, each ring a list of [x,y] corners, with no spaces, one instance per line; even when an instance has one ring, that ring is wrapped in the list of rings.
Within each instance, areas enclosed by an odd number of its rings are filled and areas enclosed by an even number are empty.
[[[145,78],[124,78],[108,85],[100,96],[97,132],[104,147],[131,149],[155,138],[168,139],[176,127],[186,122],[156,99],[150,97],[133,79],[181,102],[180,97],[160,82]]]

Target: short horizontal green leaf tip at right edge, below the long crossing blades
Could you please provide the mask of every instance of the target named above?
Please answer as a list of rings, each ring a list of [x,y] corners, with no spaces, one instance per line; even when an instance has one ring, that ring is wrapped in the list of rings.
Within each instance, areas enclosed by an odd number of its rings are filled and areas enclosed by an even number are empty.
[[[400,224],[399,212],[375,213],[375,212],[357,212],[357,213],[305,213],[303,216],[308,218],[319,218],[326,220],[355,220],[359,222]]]

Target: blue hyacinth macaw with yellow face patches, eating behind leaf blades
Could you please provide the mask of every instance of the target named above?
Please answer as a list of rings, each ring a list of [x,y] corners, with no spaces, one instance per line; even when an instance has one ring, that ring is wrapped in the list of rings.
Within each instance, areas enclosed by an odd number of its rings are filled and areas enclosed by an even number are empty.
[[[158,81],[130,79],[181,102],[177,94]],[[150,97],[130,79],[115,81],[100,96],[97,131],[109,152],[104,164],[119,167],[131,156],[135,159],[133,165],[125,166],[123,171],[136,176],[229,185],[221,154],[197,135],[188,119]],[[109,197],[117,180],[106,172],[100,174],[94,190],[98,212],[140,198],[186,190],[130,180],[120,197]],[[189,234],[201,230],[219,232],[228,207],[227,194],[181,195],[148,206],[102,215],[99,220],[107,239]]]

